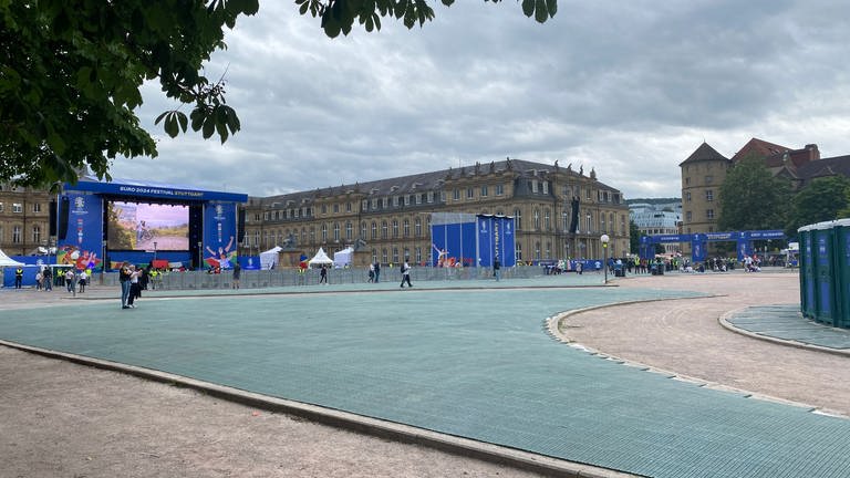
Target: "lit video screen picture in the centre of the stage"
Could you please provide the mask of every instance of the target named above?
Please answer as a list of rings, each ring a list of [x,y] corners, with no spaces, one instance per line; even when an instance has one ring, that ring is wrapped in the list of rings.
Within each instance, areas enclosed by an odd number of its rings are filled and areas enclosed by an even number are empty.
[[[108,249],[189,249],[188,206],[114,201],[107,208]]]

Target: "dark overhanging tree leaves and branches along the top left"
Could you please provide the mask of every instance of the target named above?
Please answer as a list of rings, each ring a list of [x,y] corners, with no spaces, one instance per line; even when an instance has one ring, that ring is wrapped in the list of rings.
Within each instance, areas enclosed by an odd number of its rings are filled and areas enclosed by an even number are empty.
[[[442,0],[449,6],[452,0]],[[485,0],[494,3],[500,0]],[[521,0],[537,21],[557,0]],[[324,33],[354,22],[380,30],[381,18],[407,28],[434,18],[426,0],[296,0],[321,18]],[[224,143],[241,125],[225,101],[224,79],[204,62],[226,48],[225,28],[252,15],[259,0],[0,0],[0,180],[22,186],[75,183],[86,166],[100,178],[116,156],[157,155],[136,110],[145,81],[191,105],[156,118],[172,137],[190,126]]]

